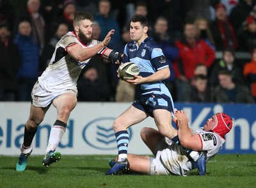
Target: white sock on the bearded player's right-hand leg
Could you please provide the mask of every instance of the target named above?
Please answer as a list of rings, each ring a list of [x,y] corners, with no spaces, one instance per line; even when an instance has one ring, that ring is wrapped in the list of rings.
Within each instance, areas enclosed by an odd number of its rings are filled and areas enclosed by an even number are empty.
[[[59,145],[59,143],[61,141],[61,138],[62,138],[65,130],[66,129],[63,126],[58,126],[58,125],[52,126],[48,146],[46,148],[45,153],[48,153],[51,150],[52,151],[56,150],[57,146]]]

